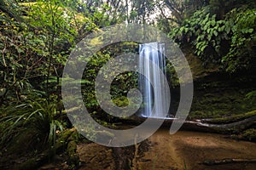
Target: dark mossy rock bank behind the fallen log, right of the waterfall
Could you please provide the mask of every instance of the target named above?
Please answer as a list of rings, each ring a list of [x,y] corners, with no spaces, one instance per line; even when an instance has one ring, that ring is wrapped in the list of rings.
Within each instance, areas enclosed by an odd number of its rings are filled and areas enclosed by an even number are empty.
[[[209,79],[203,80],[204,82],[195,82],[190,119],[229,117],[256,110],[254,102],[248,102],[246,98],[247,93],[253,88],[238,88],[234,82],[214,81],[212,77]]]

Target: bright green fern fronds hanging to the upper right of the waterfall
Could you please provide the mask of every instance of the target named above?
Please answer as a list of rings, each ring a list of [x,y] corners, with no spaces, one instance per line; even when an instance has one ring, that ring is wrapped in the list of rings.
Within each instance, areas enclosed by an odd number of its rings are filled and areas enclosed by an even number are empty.
[[[205,63],[219,63],[220,56],[225,52],[223,42],[229,40],[230,30],[229,22],[216,20],[216,15],[208,14],[207,8],[204,8],[184,20],[183,26],[174,28],[169,36],[183,43],[191,43],[195,54]]]

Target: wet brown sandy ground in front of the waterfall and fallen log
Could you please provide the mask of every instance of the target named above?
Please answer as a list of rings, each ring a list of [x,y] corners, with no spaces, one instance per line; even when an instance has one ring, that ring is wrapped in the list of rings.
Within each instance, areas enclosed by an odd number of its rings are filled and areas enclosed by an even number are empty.
[[[160,129],[148,139],[149,148],[137,158],[137,164],[127,169],[138,170],[253,170],[256,163],[230,163],[206,166],[206,160],[226,158],[256,158],[256,144],[227,139],[215,133],[180,131],[170,135],[168,129]],[[117,169],[113,150],[99,144],[80,144],[78,147],[80,169]],[[136,167],[136,168],[133,168]]]

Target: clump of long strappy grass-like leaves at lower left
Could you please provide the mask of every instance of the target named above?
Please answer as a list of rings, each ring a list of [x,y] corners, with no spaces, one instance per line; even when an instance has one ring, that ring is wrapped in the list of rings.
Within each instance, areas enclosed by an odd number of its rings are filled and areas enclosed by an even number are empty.
[[[26,99],[20,105],[10,105],[1,113],[1,147],[22,144],[26,150],[55,146],[56,133],[63,130],[56,115],[54,101],[46,99]]]

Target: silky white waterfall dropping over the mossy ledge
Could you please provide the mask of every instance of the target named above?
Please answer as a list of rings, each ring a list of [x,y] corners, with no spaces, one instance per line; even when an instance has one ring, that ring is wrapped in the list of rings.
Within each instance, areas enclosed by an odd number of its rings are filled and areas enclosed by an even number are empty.
[[[155,66],[152,65],[152,63]],[[143,106],[140,111],[140,116],[166,117],[166,95],[169,94],[166,94],[166,87],[163,85],[163,77],[160,77],[161,73],[166,75],[165,66],[164,43],[150,42],[140,44],[139,69],[141,70],[141,74],[139,76],[139,88],[143,94]],[[152,82],[152,84],[150,82]]]

